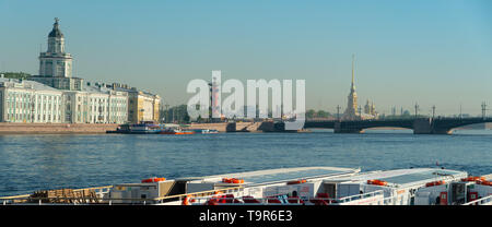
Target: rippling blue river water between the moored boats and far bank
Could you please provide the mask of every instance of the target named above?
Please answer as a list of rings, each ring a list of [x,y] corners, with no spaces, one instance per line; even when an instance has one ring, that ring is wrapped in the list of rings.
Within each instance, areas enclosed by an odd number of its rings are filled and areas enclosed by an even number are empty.
[[[414,135],[221,133],[195,135],[0,135],[0,196],[300,166],[385,170],[444,167],[492,174],[492,130]]]

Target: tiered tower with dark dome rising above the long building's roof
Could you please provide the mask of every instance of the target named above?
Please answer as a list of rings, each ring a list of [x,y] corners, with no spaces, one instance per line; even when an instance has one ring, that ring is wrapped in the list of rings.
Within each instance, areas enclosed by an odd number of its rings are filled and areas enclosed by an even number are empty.
[[[48,50],[39,55],[39,75],[44,77],[71,77],[72,56],[65,52],[65,37],[55,19],[48,35]]]

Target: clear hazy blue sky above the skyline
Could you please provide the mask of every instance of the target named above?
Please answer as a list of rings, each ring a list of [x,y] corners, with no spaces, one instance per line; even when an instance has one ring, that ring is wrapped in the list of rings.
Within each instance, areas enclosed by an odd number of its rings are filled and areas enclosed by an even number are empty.
[[[492,109],[492,1],[0,0],[0,70],[37,74],[60,19],[74,75],[184,104],[192,79],[306,80],[307,108],[359,103],[423,113]]]

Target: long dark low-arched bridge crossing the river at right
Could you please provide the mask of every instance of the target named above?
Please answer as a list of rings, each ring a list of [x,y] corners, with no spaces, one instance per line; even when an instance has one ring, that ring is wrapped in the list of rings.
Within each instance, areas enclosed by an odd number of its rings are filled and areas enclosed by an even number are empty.
[[[353,121],[309,121],[305,129],[333,129],[335,133],[361,133],[371,128],[403,128],[413,130],[413,134],[450,134],[453,129],[492,122],[492,118],[413,118],[395,120],[353,120]],[[283,124],[280,122],[280,124]],[[281,128],[277,126],[276,128]]]

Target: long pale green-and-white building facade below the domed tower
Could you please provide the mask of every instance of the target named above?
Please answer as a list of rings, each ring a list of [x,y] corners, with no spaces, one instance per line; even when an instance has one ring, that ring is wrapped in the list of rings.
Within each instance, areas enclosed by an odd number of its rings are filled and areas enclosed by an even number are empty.
[[[126,123],[128,93],[97,86],[62,91],[35,81],[0,79],[0,122]]]

